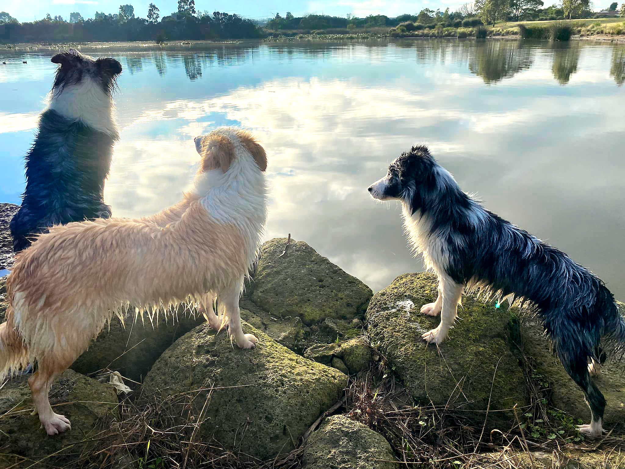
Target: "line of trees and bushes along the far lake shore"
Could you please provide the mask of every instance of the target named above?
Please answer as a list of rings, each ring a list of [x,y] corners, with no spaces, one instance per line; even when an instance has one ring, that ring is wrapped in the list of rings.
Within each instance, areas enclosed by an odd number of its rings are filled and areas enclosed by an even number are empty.
[[[607,14],[617,14],[616,2],[606,9]],[[625,3],[619,10],[625,16]],[[424,8],[418,14],[402,14],[391,18],[382,14],[357,18],[324,14],[307,14],[296,17],[287,12],[279,13],[264,25],[269,31],[285,30],[327,30],[359,28],[394,28],[401,24],[416,24],[430,28],[475,27],[492,24],[496,21],[534,21],[541,19],[591,18],[593,16],[589,0],[561,0],[560,5],[552,4],[544,8],[542,0],[475,0],[466,3],[457,11],[449,8],[441,11]],[[44,19],[31,23],[19,23],[9,13],[0,12],[0,42],[2,43],[41,43],[41,42],[93,42],[93,41],[168,41],[201,39],[244,39],[259,38],[267,32],[259,22],[242,18],[237,14],[214,11],[212,14],[196,11],[195,0],[178,0],[178,11],[161,17],[156,4],[149,4],[146,18],[136,17],[131,4],[120,5],[115,14],[96,11],[94,18],[84,19],[73,12],[66,20],[61,16],[46,14]]]

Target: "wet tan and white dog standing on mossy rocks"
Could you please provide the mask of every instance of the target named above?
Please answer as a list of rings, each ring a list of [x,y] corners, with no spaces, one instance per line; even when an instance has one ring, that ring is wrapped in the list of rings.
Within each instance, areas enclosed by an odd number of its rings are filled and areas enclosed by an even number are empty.
[[[195,142],[201,162],[178,204],[141,219],[54,226],[17,255],[0,325],[0,378],[37,361],[28,384],[48,435],[71,428],[50,405],[54,378],[120,315],[120,304],[138,305],[143,314],[191,297],[213,328],[227,320],[237,346],[256,345],[256,337],[242,331],[239,295],[267,217],[266,154],[251,134],[235,128]]]

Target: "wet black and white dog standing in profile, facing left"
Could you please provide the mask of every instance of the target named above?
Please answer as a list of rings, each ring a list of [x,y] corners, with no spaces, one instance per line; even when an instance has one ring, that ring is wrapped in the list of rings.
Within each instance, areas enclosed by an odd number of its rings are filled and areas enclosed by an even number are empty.
[[[579,431],[601,435],[606,400],[589,371],[599,371],[602,336],[603,346],[615,350],[625,342],[625,318],[604,283],[562,251],[484,209],[425,146],[402,153],[369,193],[401,201],[409,241],[438,276],[438,298],[421,312],[441,313],[441,323],[424,340],[438,344],[446,338],[465,286],[486,288],[499,300],[529,301],[564,369],[586,395],[592,421]]]

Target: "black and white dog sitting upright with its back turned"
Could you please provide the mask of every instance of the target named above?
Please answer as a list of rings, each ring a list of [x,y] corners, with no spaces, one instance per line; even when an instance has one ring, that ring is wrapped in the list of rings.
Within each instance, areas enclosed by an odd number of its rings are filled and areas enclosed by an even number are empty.
[[[119,139],[112,94],[121,65],[76,49],[52,61],[61,66],[26,154],[26,191],[10,224],[16,252],[53,224],[111,216],[103,193]]]

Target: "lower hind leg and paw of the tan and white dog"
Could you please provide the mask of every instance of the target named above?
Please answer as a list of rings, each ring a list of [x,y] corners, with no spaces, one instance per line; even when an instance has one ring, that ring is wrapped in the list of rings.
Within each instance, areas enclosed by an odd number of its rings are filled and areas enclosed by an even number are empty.
[[[38,363],[36,373],[28,378],[35,406],[33,413],[39,414],[39,421],[48,435],[58,435],[72,428],[66,416],[54,413],[48,397],[54,378],[63,373],[69,365],[71,362],[65,366],[56,361],[42,360]]]

